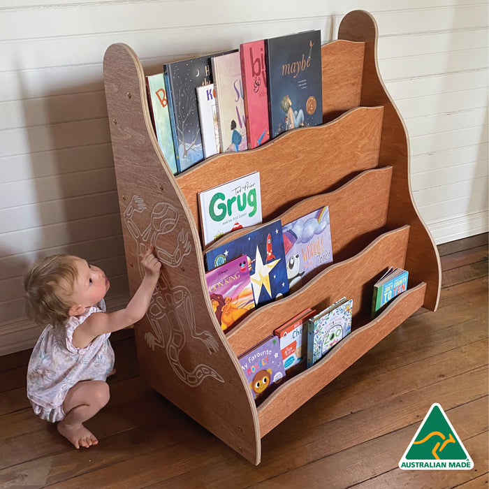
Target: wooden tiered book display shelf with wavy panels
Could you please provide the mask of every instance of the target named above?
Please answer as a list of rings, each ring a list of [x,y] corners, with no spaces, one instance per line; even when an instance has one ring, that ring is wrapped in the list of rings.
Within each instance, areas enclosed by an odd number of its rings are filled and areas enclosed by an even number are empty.
[[[439,300],[439,256],[411,196],[407,133],[379,75],[377,25],[369,13],[344,17],[338,41],[322,47],[322,73],[321,126],[213,156],[174,177],[154,136],[138,57],[124,44],[105,53],[131,293],[142,277],[141,251],[154,245],[163,263],[149,310],[135,327],[140,374],[254,464],[262,437],[416,309],[435,310]],[[334,262],[224,334],[205,284],[197,194],[252,171],[260,172],[263,223],[280,217],[287,224],[329,206]],[[391,265],[409,270],[408,290],[372,321],[372,286]],[[257,408],[238,355],[305,307],[321,310],[343,296],[353,299],[351,335]]]

